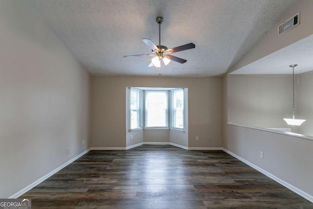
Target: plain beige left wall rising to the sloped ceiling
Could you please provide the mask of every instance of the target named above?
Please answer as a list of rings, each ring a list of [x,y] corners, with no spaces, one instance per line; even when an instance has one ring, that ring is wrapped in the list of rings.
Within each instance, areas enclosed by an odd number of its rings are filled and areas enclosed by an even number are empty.
[[[23,1],[0,0],[0,198],[88,149],[89,82]]]

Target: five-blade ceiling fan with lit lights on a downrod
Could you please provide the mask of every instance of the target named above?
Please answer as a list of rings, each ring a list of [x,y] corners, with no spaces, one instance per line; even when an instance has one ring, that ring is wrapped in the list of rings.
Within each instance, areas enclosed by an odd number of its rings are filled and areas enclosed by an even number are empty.
[[[124,57],[138,57],[138,56],[154,56],[151,60],[149,67],[161,67],[161,60],[165,65],[169,64],[171,60],[175,62],[179,62],[181,64],[187,62],[187,60],[181,59],[179,57],[175,57],[171,55],[172,53],[195,48],[196,46],[193,43],[185,44],[182,46],[177,46],[174,48],[168,49],[166,46],[161,45],[161,23],[163,22],[162,17],[156,18],[156,23],[158,23],[158,45],[156,46],[151,39],[141,39],[146,45],[148,45],[152,49],[152,54],[137,54],[137,55],[129,55]]]

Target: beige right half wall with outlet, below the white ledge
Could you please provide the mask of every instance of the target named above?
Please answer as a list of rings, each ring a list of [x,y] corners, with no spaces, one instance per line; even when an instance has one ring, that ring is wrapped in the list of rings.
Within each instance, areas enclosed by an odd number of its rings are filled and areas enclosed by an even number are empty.
[[[313,196],[313,140],[236,125],[225,133],[225,149]]]

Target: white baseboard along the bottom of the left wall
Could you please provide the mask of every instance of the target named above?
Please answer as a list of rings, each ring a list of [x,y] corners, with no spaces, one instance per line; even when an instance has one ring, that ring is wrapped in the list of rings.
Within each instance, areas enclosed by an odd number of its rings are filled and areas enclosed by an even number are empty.
[[[52,175],[56,174],[58,171],[60,171],[61,169],[65,168],[67,165],[69,165],[70,163],[73,163],[74,161],[76,161],[78,158],[82,157],[83,155],[85,155],[86,153],[88,153],[90,151],[90,148],[85,150],[84,152],[82,152],[81,154],[77,155],[76,157],[70,159],[69,161],[67,161],[66,163],[60,165],[59,167],[57,167],[56,169],[54,169],[53,171],[47,173],[45,176],[41,177],[40,179],[38,179],[37,181],[31,183],[28,186],[25,186],[24,188],[22,188],[20,191],[16,192],[15,194],[11,195],[10,197],[8,197],[9,199],[16,199],[18,197],[20,197],[22,194],[24,194],[25,192],[29,191],[30,189],[32,189],[33,187],[39,185],[40,183],[42,183],[43,181],[45,181],[47,178],[51,177]]]

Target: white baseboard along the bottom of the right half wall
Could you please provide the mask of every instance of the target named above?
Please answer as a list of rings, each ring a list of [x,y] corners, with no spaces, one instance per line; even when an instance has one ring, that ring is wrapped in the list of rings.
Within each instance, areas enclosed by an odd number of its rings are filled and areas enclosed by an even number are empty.
[[[238,160],[242,161],[243,163],[246,163],[247,165],[253,167],[254,169],[260,171],[261,173],[263,173],[264,175],[268,176],[269,178],[271,178],[272,180],[278,182],[279,184],[283,185],[283,186],[286,186],[287,188],[289,188],[291,191],[297,193],[298,195],[304,197],[305,199],[311,201],[313,203],[313,196],[306,193],[305,191],[285,182],[284,180],[281,180],[280,178],[278,178],[277,176],[274,176],[273,174],[269,173],[268,171],[264,170],[263,168],[260,168],[259,166],[253,164],[253,163],[250,163],[249,161],[243,159],[242,157],[239,157],[238,155],[230,152],[229,150],[223,148],[223,151],[228,153],[229,155],[237,158]]]

